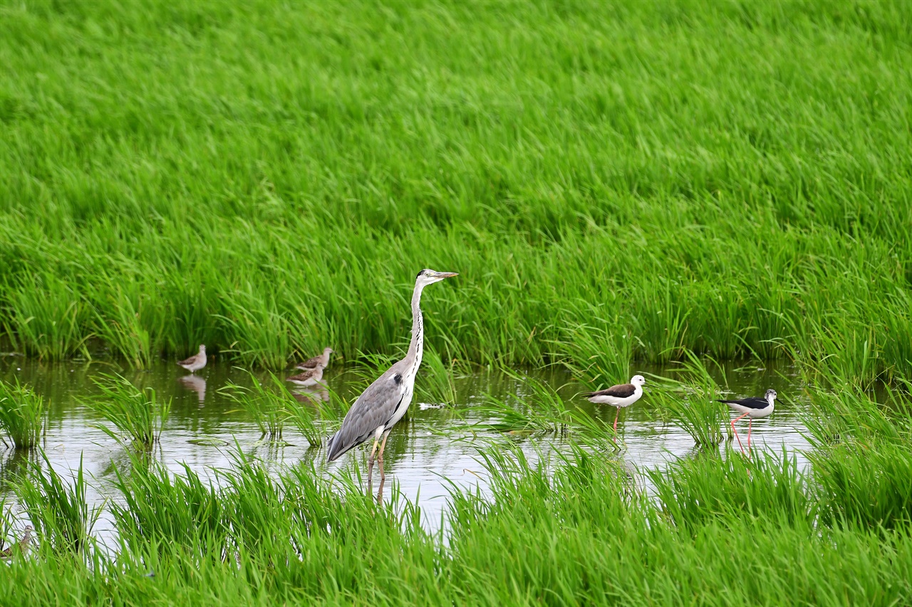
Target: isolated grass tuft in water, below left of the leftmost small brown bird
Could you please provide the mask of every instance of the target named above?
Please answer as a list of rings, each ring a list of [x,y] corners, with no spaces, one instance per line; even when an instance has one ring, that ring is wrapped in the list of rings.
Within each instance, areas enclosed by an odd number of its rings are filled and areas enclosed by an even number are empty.
[[[115,430],[98,424],[109,437],[130,440],[145,448],[158,442],[161,430],[171,412],[171,400],[157,398],[152,388],[140,389],[120,375],[101,374],[92,382],[100,394],[85,401],[85,405],[114,425]]]

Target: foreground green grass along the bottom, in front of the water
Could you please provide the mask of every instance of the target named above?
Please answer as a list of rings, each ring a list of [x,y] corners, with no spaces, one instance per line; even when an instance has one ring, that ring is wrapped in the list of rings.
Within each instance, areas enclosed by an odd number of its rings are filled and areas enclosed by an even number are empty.
[[[864,396],[851,403],[876,415]],[[582,440],[538,465],[503,444],[482,448],[490,494],[455,492],[447,531],[435,533],[395,490],[378,505],[350,470],[327,480],[312,463],[275,469],[235,452],[211,482],[134,455],[114,483],[112,551],[61,559],[55,542],[42,542],[0,577],[0,595],[71,604],[905,604],[912,449],[896,436],[912,422],[881,421],[820,448],[807,473],[788,453],[703,452],[648,475],[653,490],[594,450],[589,433],[569,432]],[[889,457],[849,448],[875,438]],[[849,492],[833,465],[851,478]]]

